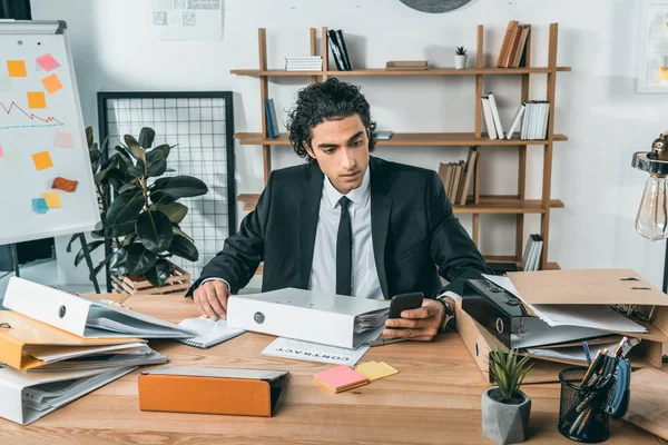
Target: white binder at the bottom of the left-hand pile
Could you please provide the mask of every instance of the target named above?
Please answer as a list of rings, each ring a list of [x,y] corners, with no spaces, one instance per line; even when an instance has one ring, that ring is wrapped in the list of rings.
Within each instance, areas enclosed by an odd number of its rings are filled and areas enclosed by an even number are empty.
[[[0,417],[28,425],[135,369],[23,373],[0,364]]]

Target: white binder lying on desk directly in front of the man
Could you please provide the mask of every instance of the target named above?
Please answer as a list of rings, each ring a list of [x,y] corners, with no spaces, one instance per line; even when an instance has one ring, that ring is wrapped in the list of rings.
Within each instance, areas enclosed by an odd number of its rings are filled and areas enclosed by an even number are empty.
[[[389,312],[385,300],[285,288],[229,297],[227,326],[354,349],[377,338]]]

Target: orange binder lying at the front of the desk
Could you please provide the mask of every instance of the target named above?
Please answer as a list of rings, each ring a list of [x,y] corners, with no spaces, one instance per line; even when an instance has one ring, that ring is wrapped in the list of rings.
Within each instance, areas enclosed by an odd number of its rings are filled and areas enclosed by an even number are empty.
[[[287,370],[168,367],[139,375],[139,408],[271,417]]]

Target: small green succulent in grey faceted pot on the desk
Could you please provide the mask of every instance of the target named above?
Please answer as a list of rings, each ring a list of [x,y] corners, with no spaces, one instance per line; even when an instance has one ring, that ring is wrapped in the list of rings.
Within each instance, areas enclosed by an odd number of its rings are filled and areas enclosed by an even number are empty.
[[[520,386],[533,364],[519,357],[517,349],[505,352],[502,345],[489,354],[489,367],[498,386],[482,393],[482,434],[499,444],[517,444],[527,439],[531,399]]]

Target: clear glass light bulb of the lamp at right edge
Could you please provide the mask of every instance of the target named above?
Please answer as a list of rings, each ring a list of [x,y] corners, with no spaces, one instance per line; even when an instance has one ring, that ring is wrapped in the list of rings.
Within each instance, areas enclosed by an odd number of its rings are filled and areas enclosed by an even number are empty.
[[[642,200],[636,218],[636,230],[652,241],[668,237],[668,178],[650,175],[645,184]]]

